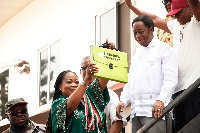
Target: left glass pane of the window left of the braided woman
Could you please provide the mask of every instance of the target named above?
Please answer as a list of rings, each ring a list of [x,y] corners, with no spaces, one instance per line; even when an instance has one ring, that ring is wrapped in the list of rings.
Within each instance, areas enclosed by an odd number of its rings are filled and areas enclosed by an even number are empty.
[[[48,49],[40,53],[40,106],[47,103]]]

